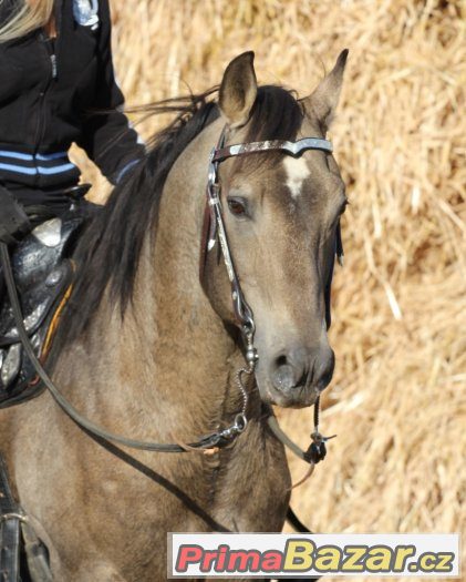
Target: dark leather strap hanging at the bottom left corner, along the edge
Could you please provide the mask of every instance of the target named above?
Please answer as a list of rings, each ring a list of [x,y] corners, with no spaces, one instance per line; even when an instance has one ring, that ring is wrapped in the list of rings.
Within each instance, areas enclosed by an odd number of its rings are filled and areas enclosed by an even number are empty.
[[[7,463],[0,455],[0,580],[19,581],[21,508],[11,493]]]

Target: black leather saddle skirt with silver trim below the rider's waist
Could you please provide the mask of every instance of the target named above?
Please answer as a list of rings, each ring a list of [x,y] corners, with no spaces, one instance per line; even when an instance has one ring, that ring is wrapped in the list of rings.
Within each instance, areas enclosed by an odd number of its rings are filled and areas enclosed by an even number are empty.
[[[24,327],[37,356],[44,361],[60,315],[71,294],[74,266],[68,256],[84,222],[70,211],[37,226],[11,257]],[[39,396],[43,386],[23,353],[0,267],[0,408]]]

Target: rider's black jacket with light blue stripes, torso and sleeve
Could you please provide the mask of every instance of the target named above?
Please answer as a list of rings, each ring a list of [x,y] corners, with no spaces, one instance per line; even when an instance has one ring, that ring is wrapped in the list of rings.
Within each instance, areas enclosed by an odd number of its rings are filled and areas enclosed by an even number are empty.
[[[11,2],[1,4],[1,23]],[[80,6],[55,1],[55,40],[38,30],[0,43],[0,182],[33,188],[76,183],[80,171],[68,157],[73,142],[113,183],[144,154],[121,111],[108,0],[99,0],[87,20]]]

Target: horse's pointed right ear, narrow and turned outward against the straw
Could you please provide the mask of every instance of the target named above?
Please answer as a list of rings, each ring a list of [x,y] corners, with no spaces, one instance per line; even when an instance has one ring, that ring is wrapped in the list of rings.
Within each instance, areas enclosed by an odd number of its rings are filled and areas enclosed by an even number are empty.
[[[320,82],[311,95],[302,100],[304,109],[309,113],[313,113],[325,130],[330,127],[339,103],[348,52],[348,49],[344,49],[340,53],[331,72]]]

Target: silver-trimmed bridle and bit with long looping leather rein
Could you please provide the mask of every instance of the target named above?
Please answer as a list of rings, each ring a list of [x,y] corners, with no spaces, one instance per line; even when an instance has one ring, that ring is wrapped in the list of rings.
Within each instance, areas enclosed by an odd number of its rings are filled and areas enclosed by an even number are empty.
[[[235,265],[231,258],[231,253],[228,244],[228,238],[225,228],[225,222],[220,202],[220,183],[218,178],[218,166],[219,163],[227,160],[228,157],[246,155],[251,153],[260,153],[267,151],[282,151],[286,154],[298,156],[307,150],[320,150],[324,152],[332,152],[332,144],[322,139],[306,137],[297,142],[272,140],[263,142],[251,142],[225,146],[226,130],[224,129],[220,135],[220,140],[216,147],[213,149],[209,160],[209,172],[207,183],[207,200],[206,200],[206,212],[205,212],[205,226],[203,233],[203,247],[201,247],[201,259],[200,259],[200,273],[204,273],[204,266],[207,253],[210,252],[216,241],[219,241],[225,265],[228,272],[228,277],[231,284],[231,299],[234,305],[234,313],[237,323],[241,329],[241,336],[245,343],[245,358],[246,367],[237,371],[236,381],[238,389],[242,396],[242,408],[239,413],[236,415],[232,423],[227,428],[219,429],[216,432],[206,435],[195,442],[184,443],[160,443],[149,442],[115,435],[105,430],[104,428],[92,422],[84,416],[82,416],[61,394],[61,391],[53,384],[49,374],[43,368],[41,361],[35,356],[31,340],[28,337],[28,333],[23,323],[23,315],[21,305],[18,297],[18,292],[14,283],[13,272],[11,268],[10,255],[6,243],[0,242],[0,263],[3,267],[4,278],[8,288],[8,295],[11,302],[11,307],[17,324],[19,337],[24,347],[25,354],[30,358],[35,371],[45,388],[50,391],[56,404],[62,410],[82,429],[90,432],[94,437],[111,441],[124,447],[132,449],[155,451],[155,452],[187,452],[187,451],[203,451],[205,453],[215,452],[217,449],[222,448],[232,442],[240,433],[242,433],[248,425],[247,408],[248,408],[248,391],[245,387],[242,377],[253,376],[257,361],[259,359],[257,349],[253,345],[255,336],[255,321],[252,310],[246,302],[242,294],[239,278],[235,269]],[[311,435],[312,443],[307,451],[301,450],[291,439],[280,429],[278,421],[273,413],[270,411],[268,418],[268,426],[273,435],[288,447],[296,456],[301,460],[313,466],[325,457],[325,441],[332,437],[323,437],[319,432],[319,398],[315,402],[314,408],[314,431]],[[308,474],[309,477],[309,474]],[[301,480],[302,482],[302,480]]]

